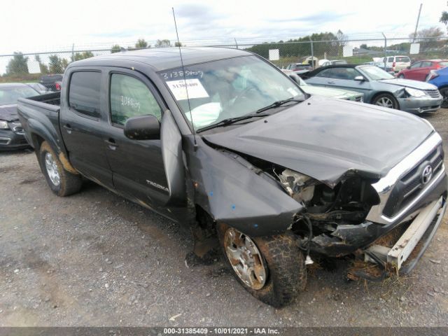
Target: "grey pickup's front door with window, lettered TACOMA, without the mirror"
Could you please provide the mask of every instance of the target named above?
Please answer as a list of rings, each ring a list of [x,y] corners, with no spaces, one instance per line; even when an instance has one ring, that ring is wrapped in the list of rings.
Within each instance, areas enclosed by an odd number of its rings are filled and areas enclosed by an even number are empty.
[[[137,202],[158,207],[169,199],[160,139],[125,137],[128,118],[152,114],[162,120],[165,104],[146,76],[125,69],[109,70],[109,120],[106,153],[115,188]]]

